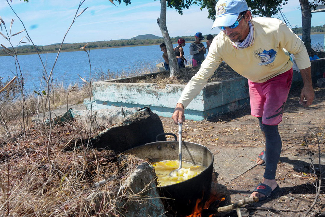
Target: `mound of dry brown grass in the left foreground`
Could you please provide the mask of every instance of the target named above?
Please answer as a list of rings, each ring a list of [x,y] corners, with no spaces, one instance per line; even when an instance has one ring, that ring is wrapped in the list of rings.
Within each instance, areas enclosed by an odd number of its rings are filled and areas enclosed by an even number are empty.
[[[0,149],[0,213],[120,216],[118,201],[129,196],[117,192],[128,174],[143,161],[131,155],[87,149],[88,135],[83,126],[72,122],[56,126],[52,131],[50,171],[46,156],[48,138],[46,131],[40,132],[30,129],[24,140],[7,143]],[[103,179],[109,180],[107,184],[94,186]],[[88,196],[100,192],[105,192],[106,198],[96,205],[94,198]]]

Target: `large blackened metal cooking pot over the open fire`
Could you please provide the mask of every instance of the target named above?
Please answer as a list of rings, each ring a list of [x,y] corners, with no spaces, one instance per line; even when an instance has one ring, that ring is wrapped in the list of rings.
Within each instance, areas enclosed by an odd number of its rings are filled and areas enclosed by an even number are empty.
[[[175,135],[174,137],[176,139]],[[139,158],[149,158],[153,162],[178,160],[179,157],[177,141],[150,142],[129,149],[124,153],[134,154]],[[184,182],[160,187],[164,196],[171,198],[167,199],[167,201],[172,209],[176,211],[177,216],[191,214],[198,199],[202,199],[202,203],[208,199],[214,158],[212,152],[207,147],[193,142],[183,142],[182,160],[201,164],[207,168],[197,176]]]

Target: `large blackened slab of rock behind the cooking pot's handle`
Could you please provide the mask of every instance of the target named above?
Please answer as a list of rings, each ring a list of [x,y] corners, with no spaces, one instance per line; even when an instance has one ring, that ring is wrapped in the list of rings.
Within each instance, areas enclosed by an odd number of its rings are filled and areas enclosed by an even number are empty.
[[[123,152],[138,145],[155,142],[156,136],[163,132],[159,116],[146,109],[129,115],[122,123],[100,132],[92,139],[92,144],[94,148]],[[161,140],[166,139],[161,137]]]

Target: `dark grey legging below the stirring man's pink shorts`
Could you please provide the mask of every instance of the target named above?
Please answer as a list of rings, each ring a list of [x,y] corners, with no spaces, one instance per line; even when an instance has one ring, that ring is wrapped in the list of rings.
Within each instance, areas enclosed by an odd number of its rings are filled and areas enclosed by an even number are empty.
[[[275,173],[281,154],[282,142],[278,130],[278,125],[271,126],[262,124],[262,117],[258,117],[260,129],[265,134],[265,157],[266,167],[264,172],[265,179],[275,179]]]

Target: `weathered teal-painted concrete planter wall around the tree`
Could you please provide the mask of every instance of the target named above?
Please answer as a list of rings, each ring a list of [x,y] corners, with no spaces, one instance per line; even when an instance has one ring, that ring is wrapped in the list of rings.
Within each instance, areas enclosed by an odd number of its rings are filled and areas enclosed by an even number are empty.
[[[322,76],[323,72],[325,72],[325,59],[312,61],[314,82]],[[171,117],[175,104],[185,87],[185,85],[168,84],[166,88],[162,89],[158,88],[156,84],[118,83],[116,81],[118,79],[94,83],[92,101],[94,109],[149,106],[156,114]],[[123,82],[125,79],[121,79],[121,81]],[[292,87],[301,82],[300,73],[294,71]],[[86,99],[84,104],[87,109],[90,109],[89,99]],[[244,77],[231,78],[205,85],[189,103],[185,110],[185,116],[187,119],[193,120],[212,119],[249,104],[247,79]]]

